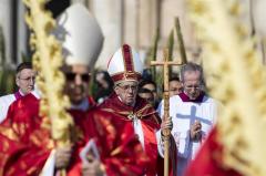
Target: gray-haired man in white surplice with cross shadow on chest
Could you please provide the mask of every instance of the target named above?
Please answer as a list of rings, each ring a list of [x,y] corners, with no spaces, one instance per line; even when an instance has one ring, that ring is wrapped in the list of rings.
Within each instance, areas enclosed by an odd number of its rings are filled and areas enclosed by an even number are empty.
[[[203,69],[187,63],[181,69],[183,92],[170,99],[170,116],[173,121],[172,135],[177,153],[177,175],[184,170],[206,138],[217,116],[217,102],[205,94]],[[163,102],[158,110],[163,117]]]

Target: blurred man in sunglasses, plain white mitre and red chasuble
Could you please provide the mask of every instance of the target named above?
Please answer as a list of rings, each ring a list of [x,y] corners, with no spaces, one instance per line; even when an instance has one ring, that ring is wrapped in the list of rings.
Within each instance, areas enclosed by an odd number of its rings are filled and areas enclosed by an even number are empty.
[[[82,28],[81,17],[86,20]],[[62,44],[69,51],[66,53],[72,53],[64,55],[66,66],[63,66],[65,92],[72,104],[69,112],[75,123],[71,131],[72,145],[54,149],[50,120],[39,115],[39,95],[33,92],[14,102],[0,125],[0,175],[52,176],[62,168],[69,176],[142,175],[146,156],[131,124],[113,118],[111,113],[92,110],[93,103],[86,99],[90,66],[94,64],[103,41],[95,19],[80,3],[66,9],[61,18],[59,28],[69,33]],[[91,39],[94,39],[93,43],[89,42]],[[80,153],[88,142],[95,144],[99,158],[95,152],[89,151],[84,162]]]

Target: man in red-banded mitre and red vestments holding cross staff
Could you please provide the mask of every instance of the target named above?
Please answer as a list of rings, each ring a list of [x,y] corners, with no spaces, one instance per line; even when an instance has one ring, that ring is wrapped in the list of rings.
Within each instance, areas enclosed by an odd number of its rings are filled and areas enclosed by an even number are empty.
[[[111,112],[124,123],[132,124],[142,147],[151,161],[146,175],[162,175],[161,120],[152,105],[137,96],[137,84],[142,71],[142,62],[130,45],[124,44],[119,49],[108,65],[108,72],[114,82],[114,93],[100,104],[99,108]],[[165,123],[162,126],[166,125],[171,126],[171,123]],[[171,146],[175,148],[174,143]],[[174,152],[174,149],[171,149],[171,152]]]

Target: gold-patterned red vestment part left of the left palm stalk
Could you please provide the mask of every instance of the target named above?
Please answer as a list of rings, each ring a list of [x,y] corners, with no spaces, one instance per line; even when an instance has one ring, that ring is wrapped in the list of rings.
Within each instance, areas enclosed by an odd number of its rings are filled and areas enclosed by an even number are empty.
[[[27,102],[28,103],[28,102]],[[39,175],[49,154],[49,132],[40,128],[35,104],[16,102],[0,125],[0,175]],[[38,121],[35,121],[38,120]]]

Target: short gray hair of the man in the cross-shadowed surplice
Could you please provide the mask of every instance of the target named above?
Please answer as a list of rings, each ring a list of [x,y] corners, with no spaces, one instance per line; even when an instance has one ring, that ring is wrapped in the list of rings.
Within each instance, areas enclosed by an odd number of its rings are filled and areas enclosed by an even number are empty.
[[[184,83],[184,75],[185,75],[185,72],[200,72],[200,81],[201,81],[201,84],[204,85],[205,82],[204,82],[204,75],[203,75],[203,68],[196,63],[193,63],[193,62],[187,62],[185,65],[183,65],[181,68],[181,82]]]

